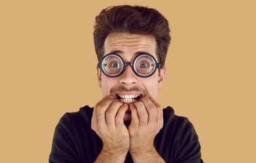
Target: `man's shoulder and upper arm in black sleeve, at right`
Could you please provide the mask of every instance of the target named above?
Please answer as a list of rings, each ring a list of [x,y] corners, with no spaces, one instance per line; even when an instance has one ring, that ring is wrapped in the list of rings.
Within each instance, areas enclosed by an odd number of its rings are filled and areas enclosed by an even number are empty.
[[[163,128],[161,134],[165,143],[173,147],[172,156],[177,162],[200,162],[199,139],[193,124],[187,117],[174,114],[172,107],[163,109]],[[173,146],[172,146],[173,145]]]

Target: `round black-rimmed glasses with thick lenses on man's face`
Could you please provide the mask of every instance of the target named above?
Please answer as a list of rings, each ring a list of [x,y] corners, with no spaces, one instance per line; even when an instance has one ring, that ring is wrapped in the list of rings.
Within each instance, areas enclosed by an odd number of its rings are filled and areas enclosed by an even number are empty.
[[[123,58],[118,54],[107,54],[104,56],[97,67],[108,77],[117,77],[125,71],[125,67],[130,65],[133,72],[140,77],[150,77],[160,68],[154,56],[150,54],[139,54],[133,62],[124,62]]]

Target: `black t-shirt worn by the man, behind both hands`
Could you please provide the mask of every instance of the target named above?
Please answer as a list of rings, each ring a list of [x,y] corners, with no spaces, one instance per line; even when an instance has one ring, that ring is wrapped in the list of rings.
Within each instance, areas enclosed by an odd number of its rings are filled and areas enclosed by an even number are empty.
[[[95,162],[102,141],[91,129],[93,108],[85,106],[75,113],[65,113],[55,128],[50,163]],[[163,109],[163,128],[154,141],[155,149],[165,162],[202,163],[201,147],[193,125],[187,117]],[[125,162],[133,162],[127,153]]]

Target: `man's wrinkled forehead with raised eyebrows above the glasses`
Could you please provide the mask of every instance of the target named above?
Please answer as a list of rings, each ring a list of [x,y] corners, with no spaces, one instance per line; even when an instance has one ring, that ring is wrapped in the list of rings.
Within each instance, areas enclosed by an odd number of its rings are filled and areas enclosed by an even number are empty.
[[[156,47],[153,35],[110,33],[104,43],[104,55],[116,53],[123,58],[134,58],[138,54],[148,53],[157,58]]]

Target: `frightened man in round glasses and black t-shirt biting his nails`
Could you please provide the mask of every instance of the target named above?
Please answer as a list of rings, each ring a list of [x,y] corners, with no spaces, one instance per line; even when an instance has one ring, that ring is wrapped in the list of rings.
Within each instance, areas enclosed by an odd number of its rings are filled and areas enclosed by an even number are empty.
[[[96,17],[94,40],[103,98],[61,118],[50,162],[203,162],[193,125],[157,103],[167,20],[148,7],[108,7]]]

